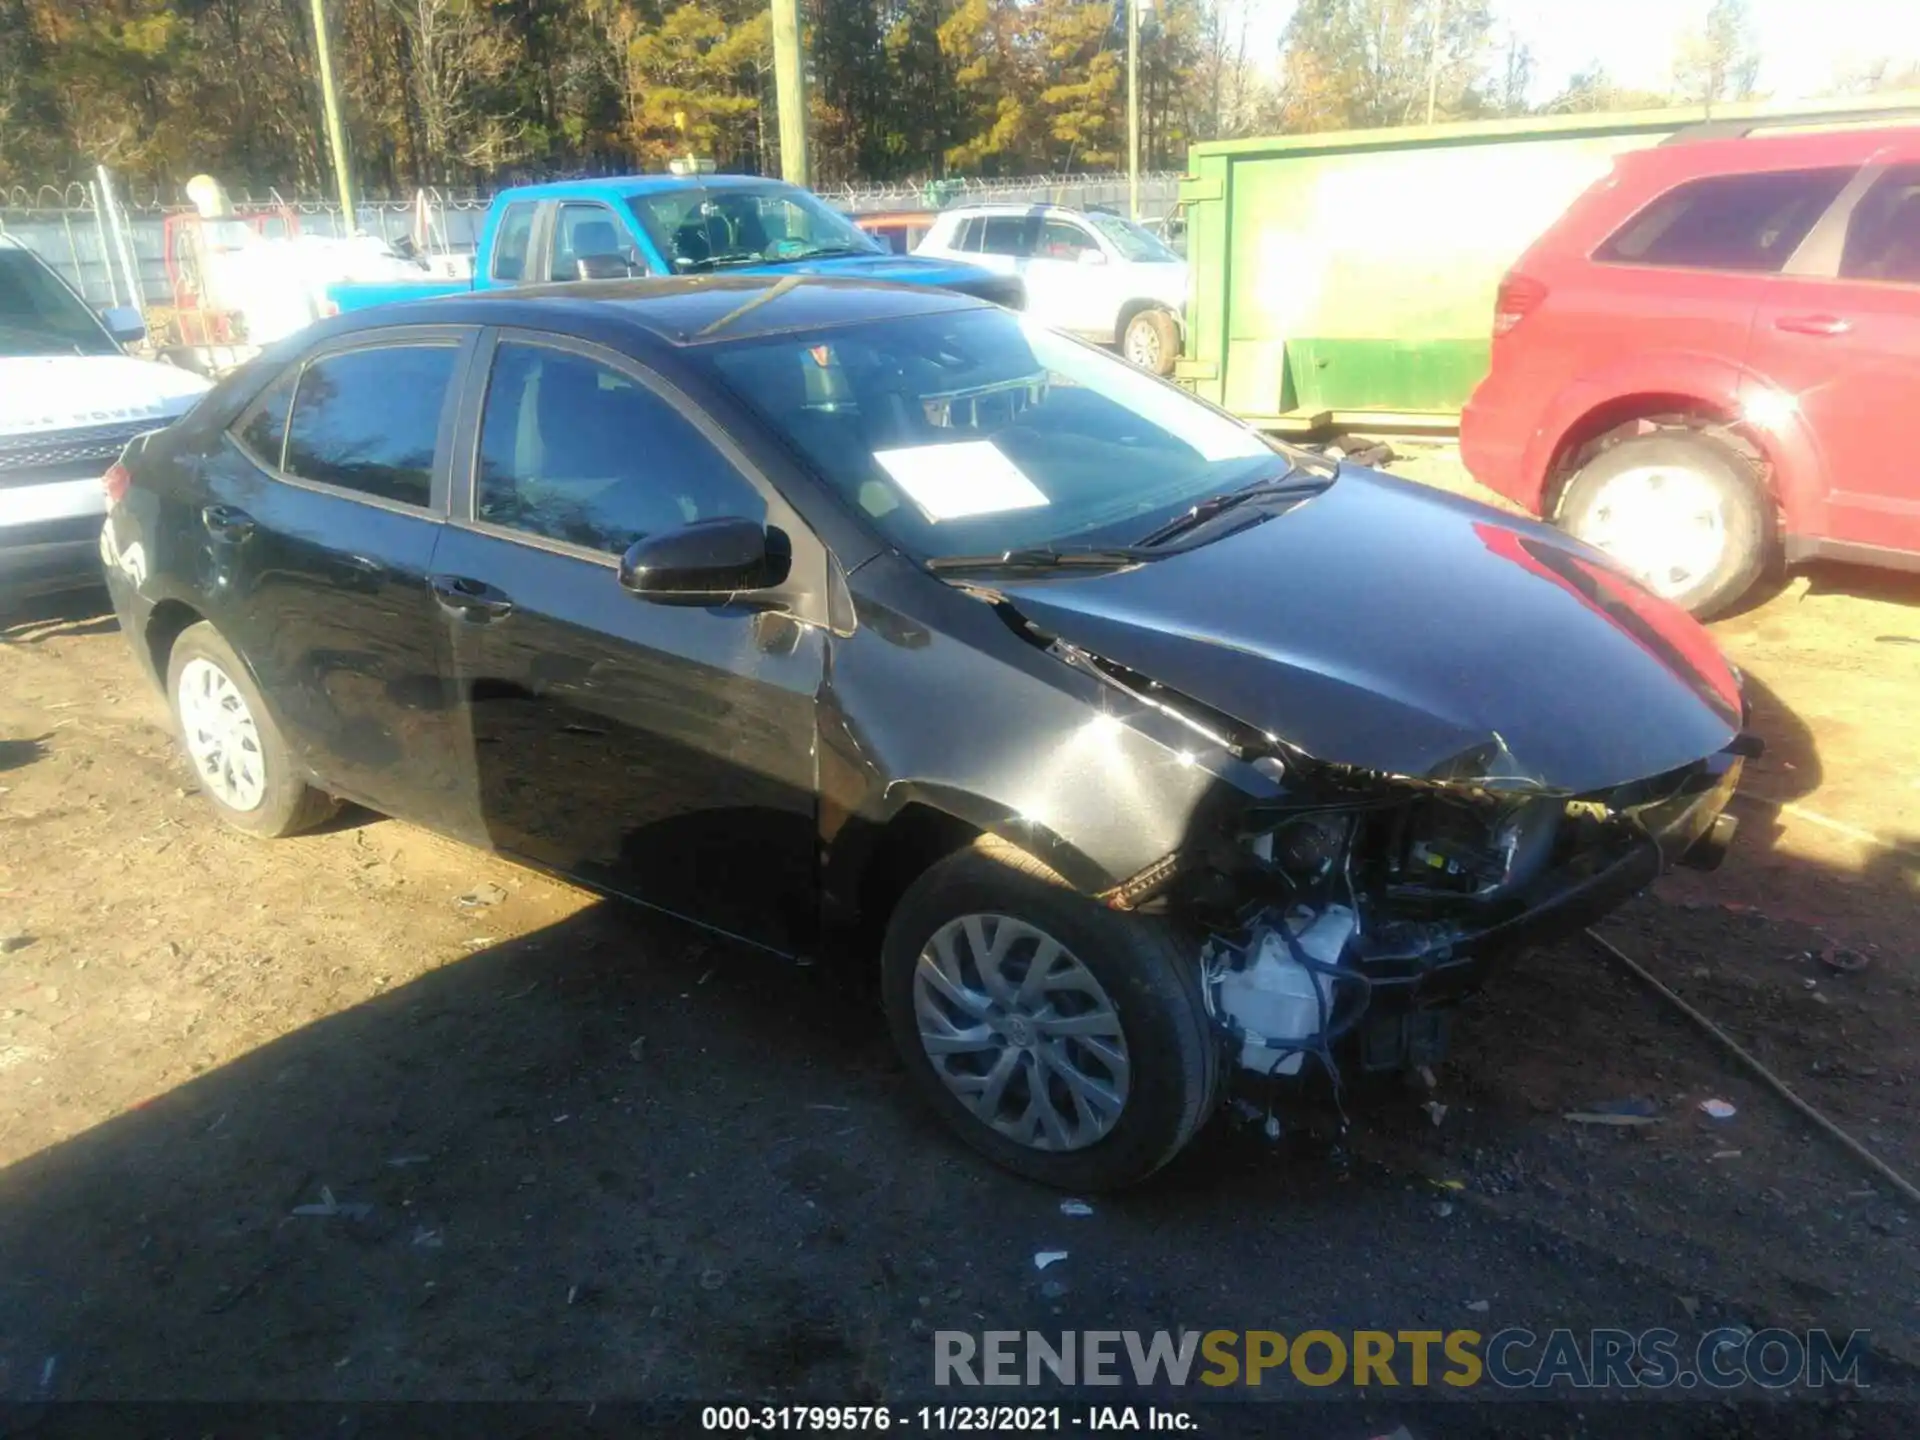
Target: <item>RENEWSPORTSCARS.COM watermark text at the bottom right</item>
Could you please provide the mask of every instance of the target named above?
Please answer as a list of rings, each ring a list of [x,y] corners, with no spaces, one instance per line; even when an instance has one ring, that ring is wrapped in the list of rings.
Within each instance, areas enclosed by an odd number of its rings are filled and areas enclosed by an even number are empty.
[[[1868,1332],[935,1331],[939,1386],[1764,1390],[1866,1386]]]

